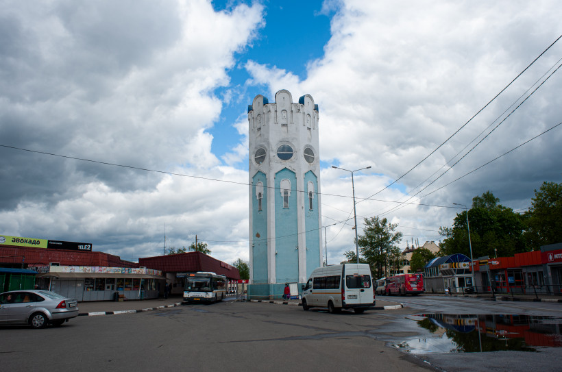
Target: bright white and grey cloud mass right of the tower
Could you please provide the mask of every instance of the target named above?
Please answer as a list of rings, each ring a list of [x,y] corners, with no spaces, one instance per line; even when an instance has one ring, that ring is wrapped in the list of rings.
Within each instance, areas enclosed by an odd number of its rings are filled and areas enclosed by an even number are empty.
[[[285,73],[278,66],[249,64],[248,71],[256,83],[267,84],[271,90],[276,90],[281,82],[297,89],[290,89],[293,95],[313,95],[320,110],[322,160],[345,169],[372,166],[369,171],[363,171],[365,176],[361,181],[356,179],[358,197],[382,190],[430,154],[560,34],[556,31],[560,29],[559,12],[554,11],[557,3],[552,1],[538,6],[505,1],[493,4],[411,1],[400,7],[365,1],[340,4],[332,18],[332,38],[324,48],[325,54],[310,61],[308,77],[302,82],[295,82],[290,72]],[[555,45],[459,134],[400,179],[397,186],[414,194],[450,168],[454,161],[449,161],[456,153],[496,118],[504,119],[502,112],[556,63],[561,51],[562,45]],[[559,73],[553,75],[489,138],[418,197],[559,123],[560,79]],[[557,145],[560,140],[562,132],[553,131],[432,193],[421,203],[470,204],[472,197],[492,190],[505,205],[524,208],[530,204],[533,189],[543,181],[560,181],[556,171],[559,166],[553,163],[562,156]],[[341,181],[349,182],[349,179],[326,177],[332,171],[322,173],[323,193],[350,196],[350,185],[345,186],[347,191],[341,185]],[[425,179],[428,181],[424,183]],[[416,188],[419,184],[422,186]],[[395,188],[384,190],[376,198],[389,202],[358,204],[363,216],[387,216],[419,229],[435,231],[439,225],[449,225],[455,212],[448,208],[404,206],[388,213],[395,207],[390,201],[408,199]],[[415,198],[411,202],[420,201]],[[324,225],[332,221],[327,216],[342,220],[352,210],[352,203],[343,198],[323,197],[322,203],[347,211],[334,212],[323,206]],[[330,232],[334,236],[340,228],[341,225],[330,227],[328,242]],[[423,230],[411,233],[425,235]],[[337,238],[333,238],[338,254],[350,247],[353,234],[343,227]],[[340,240],[343,235],[345,238]],[[426,238],[436,240],[439,236]]]

